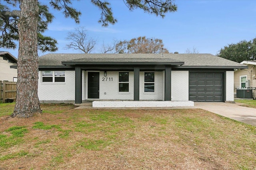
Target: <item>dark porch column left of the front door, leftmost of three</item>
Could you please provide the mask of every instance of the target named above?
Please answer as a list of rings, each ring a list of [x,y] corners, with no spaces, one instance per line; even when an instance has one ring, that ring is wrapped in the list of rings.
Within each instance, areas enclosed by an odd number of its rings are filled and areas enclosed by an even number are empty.
[[[80,66],[75,68],[75,104],[82,103],[82,70]]]

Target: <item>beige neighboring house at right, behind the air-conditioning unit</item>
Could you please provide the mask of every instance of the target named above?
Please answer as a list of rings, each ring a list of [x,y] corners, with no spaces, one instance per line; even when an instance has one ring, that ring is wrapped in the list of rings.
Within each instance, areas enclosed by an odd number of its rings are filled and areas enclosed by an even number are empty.
[[[236,96],[236,89],[250,88],[252,97],[256,97],[256,61],[243,61],[241,64],[247,65],[248,68],[234,71],[234,94]]]

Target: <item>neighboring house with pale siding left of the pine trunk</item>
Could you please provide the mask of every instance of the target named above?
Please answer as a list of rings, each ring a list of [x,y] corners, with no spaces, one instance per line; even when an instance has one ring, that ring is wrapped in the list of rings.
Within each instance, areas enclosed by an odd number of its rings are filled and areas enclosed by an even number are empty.
[[[16,57],[7,51],[0,51],[0,81],[17,82],[17,68],[10,68],[17,63]]]

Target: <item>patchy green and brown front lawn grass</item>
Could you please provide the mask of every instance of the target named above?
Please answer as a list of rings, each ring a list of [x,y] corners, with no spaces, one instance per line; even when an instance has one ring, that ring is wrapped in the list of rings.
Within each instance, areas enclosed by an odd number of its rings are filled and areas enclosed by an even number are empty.
[[[256,127],[202,109],[0,109],[0,169],[183,170],[256,167]]]

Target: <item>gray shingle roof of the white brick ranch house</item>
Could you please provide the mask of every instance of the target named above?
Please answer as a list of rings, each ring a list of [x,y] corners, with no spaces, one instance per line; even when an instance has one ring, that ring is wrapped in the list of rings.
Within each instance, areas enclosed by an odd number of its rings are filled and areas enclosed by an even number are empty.
[[[184,62],[181,66],[244,67],[211,54],[47,54],[39,57],[40,66],[62,66],[62,62]]]

